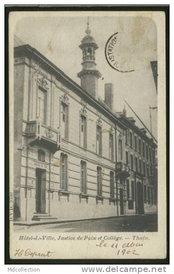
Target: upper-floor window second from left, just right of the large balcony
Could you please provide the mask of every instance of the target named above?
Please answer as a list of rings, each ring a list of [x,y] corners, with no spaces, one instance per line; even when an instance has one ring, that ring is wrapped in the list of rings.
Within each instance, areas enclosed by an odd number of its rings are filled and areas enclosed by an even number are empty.
[[[61,131],[62,138],[68,139],[68,106],[61,103]]]

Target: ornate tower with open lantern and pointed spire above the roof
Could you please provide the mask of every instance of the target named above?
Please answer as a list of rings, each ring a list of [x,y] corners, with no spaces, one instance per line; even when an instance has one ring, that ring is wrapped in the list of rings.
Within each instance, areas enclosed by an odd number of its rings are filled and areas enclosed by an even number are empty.
[[[101,73],[96,69],[95,50],[98,49],[98,46],[94,38],[90,35],[89,17],[87,17],[86,34],[82,40],[82,44],[79,46],[83,52],[83,68],[78,73],[78,77],[81,78],[82,88],[95,99],[98,99],[98,78],[101,77]]]

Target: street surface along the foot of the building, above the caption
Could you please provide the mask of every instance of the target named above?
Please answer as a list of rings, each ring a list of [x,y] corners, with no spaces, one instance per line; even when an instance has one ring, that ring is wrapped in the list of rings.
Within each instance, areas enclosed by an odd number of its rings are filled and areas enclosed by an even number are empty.
[[[155,232],[158,231],[158,217],[157,214],[149,214],[32,226],[14,225],[14,230],[16,232]]]

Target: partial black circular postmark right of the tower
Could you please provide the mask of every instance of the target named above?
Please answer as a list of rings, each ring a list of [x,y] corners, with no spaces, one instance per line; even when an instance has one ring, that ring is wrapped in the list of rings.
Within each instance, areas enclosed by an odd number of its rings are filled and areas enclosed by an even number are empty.
[[[118,45],[119,32],[109,37],[105,45],[105,58],[109,66],[120,72],[131,72],[135,69],[130,67],[128,57],[122,52],[122,45]],[[123,40],[123,39],[122,39]],[[124,49],[123,49],[124,51]]]

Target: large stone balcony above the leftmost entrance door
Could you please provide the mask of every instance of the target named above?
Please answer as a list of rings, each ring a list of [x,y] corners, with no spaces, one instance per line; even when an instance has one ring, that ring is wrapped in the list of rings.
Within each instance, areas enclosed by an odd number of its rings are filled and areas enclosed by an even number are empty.
[[[38,143],[52,150],[52,152],[60,148],[60,132],[44,125],[39,120],[27,123],[26,135],[31,139],[31,145]]]

